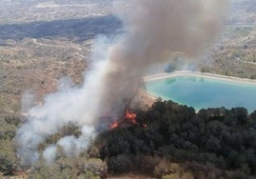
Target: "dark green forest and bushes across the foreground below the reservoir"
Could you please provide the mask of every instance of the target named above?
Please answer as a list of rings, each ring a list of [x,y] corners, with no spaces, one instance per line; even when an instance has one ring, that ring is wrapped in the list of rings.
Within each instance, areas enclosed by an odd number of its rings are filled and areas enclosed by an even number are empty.
[[[53,164],[45,165],[41,160],[27,175],[29,178],[107,178],[134,172],[164,179],[256,177],[256,110],[251,114],[244,108],[196,112],[159,99],[150,109],[134,112],[138,124],[146,124],[146,128],[131,125],[107,130],[92,140],[88,150],[73,158],[58,149]],[[1,129],[0,137],[1,144],[6,145],[0,149],[0,170],[3,175],[15,175],[22,169],[11,139],[19,121],[6,118],[4,125],[6,130]],[[78,136],[79,129],[70,124],[39,148],[44,149],[67,134]]]

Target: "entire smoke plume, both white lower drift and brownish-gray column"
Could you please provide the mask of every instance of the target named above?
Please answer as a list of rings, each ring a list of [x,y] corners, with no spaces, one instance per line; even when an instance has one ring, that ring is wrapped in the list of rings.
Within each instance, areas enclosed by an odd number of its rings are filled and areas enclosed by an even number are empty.
[[[24,165],[38,160],[38,145],[69,122],[82,135],[66,136],[42,154],[47,162],[61,147],[68,156],[86,149],[96,135],[100,116],[117,115],[139,89],[144,71],[179,52],[197,57],[222,29],[227,0],[129,0],[118,3],[124,33],[114,45],[96,43],[95,66],[82,88],[59,89],[42,106],[29,110],[17,132],[18,154]],[[120,12],[123,11],[123,12]]]

